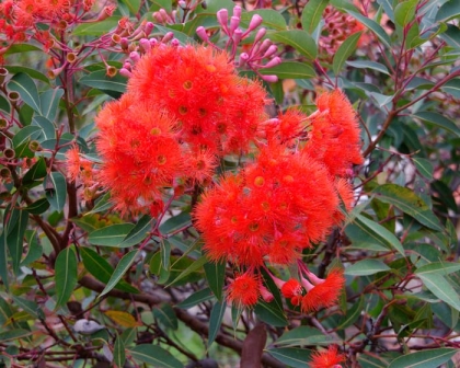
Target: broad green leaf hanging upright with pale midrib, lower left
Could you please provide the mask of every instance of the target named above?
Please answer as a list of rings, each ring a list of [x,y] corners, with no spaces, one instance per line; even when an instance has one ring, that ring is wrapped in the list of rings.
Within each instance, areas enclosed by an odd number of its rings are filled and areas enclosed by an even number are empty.
[[[69,246],[62,250],[55,264],[56,283],[56,307],[64,306],[73,292],[77,285],[77,255],[73,248]]]

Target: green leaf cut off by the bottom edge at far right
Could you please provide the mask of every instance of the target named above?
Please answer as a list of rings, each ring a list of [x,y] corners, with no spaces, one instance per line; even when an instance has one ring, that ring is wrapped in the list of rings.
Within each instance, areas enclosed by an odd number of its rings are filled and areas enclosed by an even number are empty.
[[[448,361],[458,349],[440,347],[405,354],[392,360],[389,368],[433,368]]]

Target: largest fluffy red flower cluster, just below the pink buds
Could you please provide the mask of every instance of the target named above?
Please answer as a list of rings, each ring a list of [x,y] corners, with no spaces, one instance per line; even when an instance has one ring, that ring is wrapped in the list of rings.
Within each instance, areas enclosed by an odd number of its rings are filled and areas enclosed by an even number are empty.
[[[156,216],[166,189],[208,183],[219,157],[249,150],[264,105],[265,91],[238,77],[226,54],[159,43],[96,117],[100,182],[117,210]]]

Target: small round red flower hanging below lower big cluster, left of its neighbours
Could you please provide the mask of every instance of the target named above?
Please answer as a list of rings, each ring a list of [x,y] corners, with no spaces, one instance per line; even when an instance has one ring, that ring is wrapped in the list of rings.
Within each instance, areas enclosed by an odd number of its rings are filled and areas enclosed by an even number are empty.
[[[238,307],[253,307],[261,296],[260,286],[260,279],[246,272],[229,285],[227,300]]]

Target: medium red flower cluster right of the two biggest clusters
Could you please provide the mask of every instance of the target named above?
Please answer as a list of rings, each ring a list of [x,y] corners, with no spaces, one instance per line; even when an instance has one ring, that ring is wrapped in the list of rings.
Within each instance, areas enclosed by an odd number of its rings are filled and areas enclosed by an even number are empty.
[[[311,131],[306,151],[323,162],[332,175],[349,175],[352,164],[361,164],[358,120],[341,90],[323,93],[318,112],[310,116]]]

